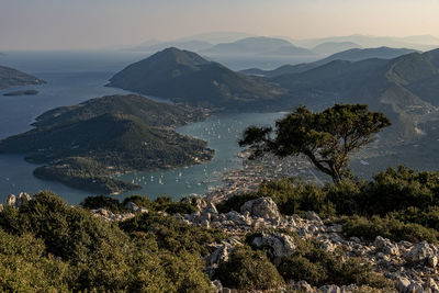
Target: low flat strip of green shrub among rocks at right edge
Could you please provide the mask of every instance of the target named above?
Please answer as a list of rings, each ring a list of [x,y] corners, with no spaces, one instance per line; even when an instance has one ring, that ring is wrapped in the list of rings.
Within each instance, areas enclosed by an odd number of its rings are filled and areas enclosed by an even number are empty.
[[[371,218],[360,216],[345,218],[344,232],[348,236],[363,237],[368,240],[382,236],[394,241],[420,243],[427,240],[437,243],[439,237],[437,230],[426,228],[419,224],[406,224],[390,216],[380,217],[376,215]]]

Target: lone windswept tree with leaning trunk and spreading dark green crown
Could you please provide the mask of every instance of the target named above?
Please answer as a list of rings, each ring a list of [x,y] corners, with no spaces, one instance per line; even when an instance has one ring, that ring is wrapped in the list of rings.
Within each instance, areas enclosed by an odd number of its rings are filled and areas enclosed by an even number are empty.
[[[279,157],[305,155],[322,172],[340,183],[349,173],[349,154],[375,139],[390,126],[380,112],[365,104],[335,104],[319,113],[299,106],[272,127],[248,127],[240,146],[250,146],[252,157],[272,153]]]

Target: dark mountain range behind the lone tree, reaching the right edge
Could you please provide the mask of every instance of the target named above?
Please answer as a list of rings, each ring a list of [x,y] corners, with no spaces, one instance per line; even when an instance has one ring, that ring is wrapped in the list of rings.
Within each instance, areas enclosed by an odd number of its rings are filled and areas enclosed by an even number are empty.
[[[432,132],[429,122],[439,120],[439,49],[394,59],[335,60],[272,81],[289,89],[293,101],[367,103],[391,117],[397,139]]]

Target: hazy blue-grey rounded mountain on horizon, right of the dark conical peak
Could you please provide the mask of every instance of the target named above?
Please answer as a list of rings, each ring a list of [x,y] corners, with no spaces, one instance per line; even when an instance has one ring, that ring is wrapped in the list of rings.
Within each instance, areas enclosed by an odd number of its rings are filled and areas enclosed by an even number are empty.
[[[204,49],[205,55],[290,55],[313,56],[314,52],[296,47],[290,42],[274,37],[246,37],[233,43],[222,43]]]

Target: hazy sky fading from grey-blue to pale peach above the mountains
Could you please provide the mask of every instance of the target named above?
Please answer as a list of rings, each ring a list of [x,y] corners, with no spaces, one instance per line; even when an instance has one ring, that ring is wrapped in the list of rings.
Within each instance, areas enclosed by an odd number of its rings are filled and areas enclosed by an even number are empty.
[[[0,0],[0,49],[99,48],[235,31],[439,36],[439,0]]]

